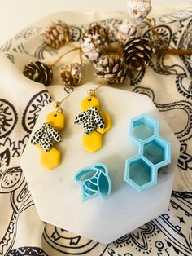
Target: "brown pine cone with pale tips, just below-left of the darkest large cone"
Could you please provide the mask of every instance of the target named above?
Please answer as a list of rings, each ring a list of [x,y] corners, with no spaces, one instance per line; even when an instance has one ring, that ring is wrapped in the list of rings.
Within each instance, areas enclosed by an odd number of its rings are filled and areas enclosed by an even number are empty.
[[[96,64],[94,64],[96,74],[103,77],[109,84],[123,83],[127,77],[128,69],[124,64],[124,60],[118,55],[102,56]]]

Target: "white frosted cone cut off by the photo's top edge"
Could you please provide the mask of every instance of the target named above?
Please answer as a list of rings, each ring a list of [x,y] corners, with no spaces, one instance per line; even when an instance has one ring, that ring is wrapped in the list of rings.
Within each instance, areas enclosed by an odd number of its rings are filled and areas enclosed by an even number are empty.
[[[143,20],[151,12],[151,0],[128,0],[127,11],[136,20]]]

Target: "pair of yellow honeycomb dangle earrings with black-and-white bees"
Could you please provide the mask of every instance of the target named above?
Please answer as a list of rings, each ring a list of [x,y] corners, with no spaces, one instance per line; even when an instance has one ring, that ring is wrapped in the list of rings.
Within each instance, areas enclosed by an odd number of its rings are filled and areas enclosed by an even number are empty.
[[[75,124],[83,126],[83,148],[92,153],[103,147],[103,135],[111,129],[111,117],[101,110],[95,90],[88,90],[88,96],[81,101],[81,113],[74,121]],[[69,96],[54,103],[55,111],[47,115],[46,121],[31,139],[31,143],[41,150],[41,166],[47,170],[59,166],[61,161],[61,152],[55,148],[55,143],[62,141],[59,132],[64,129],[65,116],[61,104]]]

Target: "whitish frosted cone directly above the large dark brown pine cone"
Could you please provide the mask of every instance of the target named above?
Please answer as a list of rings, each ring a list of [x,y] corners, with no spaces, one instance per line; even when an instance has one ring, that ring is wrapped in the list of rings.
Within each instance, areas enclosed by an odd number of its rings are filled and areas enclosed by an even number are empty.
[[[129,38],[140,36],[140,34],[141,29],[133,20],[124,20],[119,26],[117,39],[124,45]]]

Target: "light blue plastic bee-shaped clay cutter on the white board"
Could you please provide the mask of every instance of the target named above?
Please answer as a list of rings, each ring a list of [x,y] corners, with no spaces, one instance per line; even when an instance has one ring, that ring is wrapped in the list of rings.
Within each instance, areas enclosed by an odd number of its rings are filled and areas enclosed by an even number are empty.
[[[111,194],[111,179],[107,166],[96,164],[79,170],[75,177],[77,183],[81,183],[82,201],[101,196],[106,199]]]

